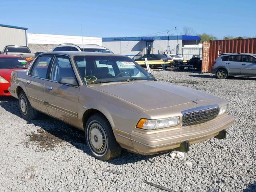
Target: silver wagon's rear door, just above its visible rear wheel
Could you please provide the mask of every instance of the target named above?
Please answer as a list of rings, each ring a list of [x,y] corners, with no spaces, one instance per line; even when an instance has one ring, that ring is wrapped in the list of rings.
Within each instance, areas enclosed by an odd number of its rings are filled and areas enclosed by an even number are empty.
[[[242,55],[230,55],[225,61],[225,66],[229,69],[230,75],[240,75],[242,66]]]

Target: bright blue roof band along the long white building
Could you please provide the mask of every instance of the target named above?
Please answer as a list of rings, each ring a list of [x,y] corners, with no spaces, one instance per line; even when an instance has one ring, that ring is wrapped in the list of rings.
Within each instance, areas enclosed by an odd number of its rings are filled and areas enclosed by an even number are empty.
[[[199,36],[193,35],[178,35],[169,36],[169,40],[201,40]],[[168,40],[168,36],[141,36],[141,37],[103,37],[102,42],[106,41],[154,41],[154,40]]]

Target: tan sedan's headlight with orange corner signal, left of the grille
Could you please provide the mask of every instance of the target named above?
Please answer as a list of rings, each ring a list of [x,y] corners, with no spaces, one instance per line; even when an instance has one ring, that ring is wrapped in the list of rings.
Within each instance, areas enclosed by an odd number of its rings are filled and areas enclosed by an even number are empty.
[[[154,130],[165,127],[172,127],[178,125],[180,122],[180,117],[169,117],[163,119],[140,119],[137,128],[142,128],[146,130]]]

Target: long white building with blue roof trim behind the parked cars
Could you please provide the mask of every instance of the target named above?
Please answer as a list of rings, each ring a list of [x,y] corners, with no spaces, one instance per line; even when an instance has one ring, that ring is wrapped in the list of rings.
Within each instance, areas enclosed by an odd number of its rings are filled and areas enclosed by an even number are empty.
[[[168,50],[172,54],[182,54],[184,45],[194,45],[200,42],[199,36],[141,36],[102,38],[102,44],[115,54],[135,58],[142,54],[161,54]]]

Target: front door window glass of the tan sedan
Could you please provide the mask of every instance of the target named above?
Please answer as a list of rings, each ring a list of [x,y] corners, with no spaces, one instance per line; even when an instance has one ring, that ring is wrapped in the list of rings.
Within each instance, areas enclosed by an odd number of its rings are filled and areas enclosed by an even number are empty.
[[[69,58],[56,56],[50,72],[50,80],[60,82],[62,78],[75,78]]]

